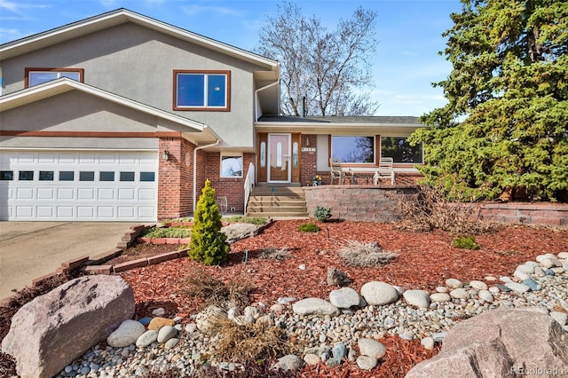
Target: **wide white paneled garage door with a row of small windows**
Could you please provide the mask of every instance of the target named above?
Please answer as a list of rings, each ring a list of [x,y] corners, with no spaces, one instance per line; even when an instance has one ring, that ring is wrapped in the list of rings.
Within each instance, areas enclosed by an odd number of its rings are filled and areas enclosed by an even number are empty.
[[[2,152],[0,219],[151,221],[156,152]]]

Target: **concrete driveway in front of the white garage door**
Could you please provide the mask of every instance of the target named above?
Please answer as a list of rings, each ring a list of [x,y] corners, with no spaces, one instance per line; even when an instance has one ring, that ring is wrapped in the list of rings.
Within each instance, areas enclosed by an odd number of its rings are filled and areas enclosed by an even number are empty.
[[[61,263],[116,248],[126,222],[0,222],[0,298]],[[138,223],[139,224],[139,223]]]

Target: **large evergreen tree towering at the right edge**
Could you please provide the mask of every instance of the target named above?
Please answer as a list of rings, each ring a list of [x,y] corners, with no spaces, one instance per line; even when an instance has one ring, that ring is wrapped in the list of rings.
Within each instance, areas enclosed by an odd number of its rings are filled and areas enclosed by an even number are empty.
[[[422,172],[477,198],[555,201],[568,189],[568,2],[461,3],[445,33],[453,71],[434,84],[448,103],[411,138],[425,143]]]

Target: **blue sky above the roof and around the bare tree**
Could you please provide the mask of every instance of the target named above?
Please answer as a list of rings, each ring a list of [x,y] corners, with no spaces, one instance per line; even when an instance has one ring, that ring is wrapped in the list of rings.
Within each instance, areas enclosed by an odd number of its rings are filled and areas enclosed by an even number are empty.
[[[117,8],[127,8],[200,35],[253,50],[266,16],[278,0],[0,0],[0,43],[33,35]],[[373,56],[376,115],[422,115],[446,99],[430,83],[452,67],[438,55],[441,34],[452,27],[459,0],[297,0],[304,15],[317,15],[329,29],[360,5],[377,13]]]

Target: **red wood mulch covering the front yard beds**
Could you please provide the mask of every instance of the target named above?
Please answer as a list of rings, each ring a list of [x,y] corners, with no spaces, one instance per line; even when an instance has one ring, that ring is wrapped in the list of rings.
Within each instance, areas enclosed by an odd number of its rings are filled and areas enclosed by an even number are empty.
[[[368,281],[380,280],[406,289],[433,291],[448,278],[468,281],[484,280],[487,275],[510,275],[518,264],[535,256],[568,251],[567,230],[508,226],[478,235],[481,249],[468,250],[452,247],[453,235],[448,232],[405,232],[392,224],[359,222],[325,223],[319,224],[319,232],[298,232],[298,225],[305,222],[275,221],[255,238],[234,243],[222,267],[206,267],[181,258],[120,273],[134,290],[137,316],[148,316],[158,307],[168,315],[185,316],[198,311],[201,303],[183,294],[184,279],[196,269],[220,280],[248,280],[256,286],[253,301],[270,306],[280,296],[327,298],[335,289],[327,286],[329,266],[346,272],[354,280],[351,287],[357,290]],[[398,253],[398,257],[380,268],[351,267],[336,254],[346,240],[377,241],[384,250]],[[257,258],[263,248],[285,247],[290,248],[292,257],[284,261]],[[154,252],[175,248],[154,247]],[[300,264],[305,264],[306,269],[300,270]],[[381,341],[387,347],[387,357],[370,372],[343,363],[329,370],[323,365],[305,367],[302,376],[402,377],[412,366],[438,351],[424,350],[418,340],[405,341],[396,336],[385,336]]]

